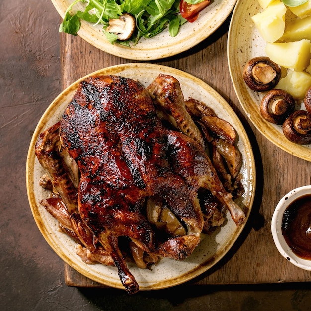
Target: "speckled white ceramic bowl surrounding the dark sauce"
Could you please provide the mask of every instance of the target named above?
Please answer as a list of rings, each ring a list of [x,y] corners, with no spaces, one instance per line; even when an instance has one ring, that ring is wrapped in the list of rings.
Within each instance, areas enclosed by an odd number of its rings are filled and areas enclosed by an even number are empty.
[[[311,271],[311,260],[296,256],[282,235],[282,219],[286,208],[301,196],[311,194],[311,185],[299,187],[287,193],[277,204],[271,221],[271,232],[274,243],[280,254],[295,266]]]

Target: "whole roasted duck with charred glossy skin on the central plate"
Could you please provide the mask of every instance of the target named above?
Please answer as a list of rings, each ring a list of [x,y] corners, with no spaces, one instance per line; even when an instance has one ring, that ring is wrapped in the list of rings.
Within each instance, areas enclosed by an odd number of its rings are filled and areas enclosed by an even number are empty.
[[[121,238],[144,267],[140,254],[156,262],[192,253],[205,227],[208,196],[227,207],[237,225],[245,219],[206,155],[201,133],[175,78],[159,75],[146,89],[129,78],[92,76],[79,84],[60,122],[38,139],[36,155],[67,207],[63,227],[84,246],[77,251],[114,264],[130,294],[139,286]],[[42,204],[51,210],[53,199]]]

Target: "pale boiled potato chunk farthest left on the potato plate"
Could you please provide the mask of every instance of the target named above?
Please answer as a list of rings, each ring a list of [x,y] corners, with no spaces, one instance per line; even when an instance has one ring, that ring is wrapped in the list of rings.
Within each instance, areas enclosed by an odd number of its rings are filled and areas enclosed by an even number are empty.
[[[272,2],[262,12],[251,17],[262,38],[275,42],[282,37],[285,29],[286,6],[281,1]]]

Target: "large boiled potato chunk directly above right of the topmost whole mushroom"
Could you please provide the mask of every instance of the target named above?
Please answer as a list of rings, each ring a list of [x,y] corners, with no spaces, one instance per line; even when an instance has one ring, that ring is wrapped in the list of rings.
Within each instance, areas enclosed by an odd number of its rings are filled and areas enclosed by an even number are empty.
[[[266,43],[266,54],[275,63],[285,68],[303,71],[311,59],[311,42],[302,39],[295,42]]]

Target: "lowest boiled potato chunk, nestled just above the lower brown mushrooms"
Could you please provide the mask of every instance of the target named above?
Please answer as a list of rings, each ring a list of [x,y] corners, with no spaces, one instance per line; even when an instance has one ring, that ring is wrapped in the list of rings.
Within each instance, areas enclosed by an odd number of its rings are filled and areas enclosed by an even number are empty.
[[[283,89],[290,93],[295,100],[302,100],[307,89],[311,86],[311,75],[304,71],[289,70],[286,77],[280,79],[276,89]]]

